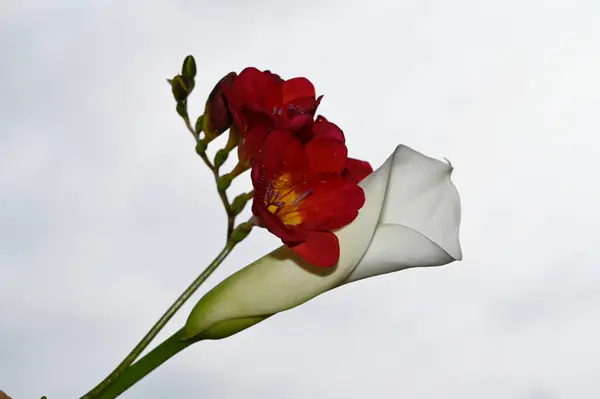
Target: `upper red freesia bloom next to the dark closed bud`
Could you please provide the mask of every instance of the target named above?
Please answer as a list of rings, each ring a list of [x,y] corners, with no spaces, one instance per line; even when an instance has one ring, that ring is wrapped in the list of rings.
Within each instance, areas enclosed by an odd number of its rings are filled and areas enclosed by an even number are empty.
[[[321,97],[305,78],[283,80],[270,71],[244,69],[225,92],[241,133],[239,154],[245,163],[256,158],[273,129],[297,131],[312,124]],[[249,165],[249,163],[247,164]]]

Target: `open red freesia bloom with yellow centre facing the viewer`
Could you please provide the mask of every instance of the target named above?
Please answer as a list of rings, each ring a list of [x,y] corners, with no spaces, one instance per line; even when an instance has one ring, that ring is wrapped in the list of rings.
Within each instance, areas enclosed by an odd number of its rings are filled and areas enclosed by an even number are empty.
[[[352,222],[365,196],[343,176],[348,158],[339,128],[324,118],[314,126],[312,139],[304,143],[289,130],[267,135],[252,166],[252,211],[304,260],[331,267],[340,253],[331,230]]]

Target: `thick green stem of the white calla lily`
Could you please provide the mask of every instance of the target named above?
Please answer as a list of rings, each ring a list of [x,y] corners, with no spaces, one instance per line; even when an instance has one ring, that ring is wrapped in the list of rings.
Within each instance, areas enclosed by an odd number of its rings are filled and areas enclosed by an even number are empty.
[[[132,364],[121,378],[100,394],[98,399],[113,399],[154,371],[158,366],[187,348],[197,340],[184,340],[183,328],[167,338],[139,361]]]

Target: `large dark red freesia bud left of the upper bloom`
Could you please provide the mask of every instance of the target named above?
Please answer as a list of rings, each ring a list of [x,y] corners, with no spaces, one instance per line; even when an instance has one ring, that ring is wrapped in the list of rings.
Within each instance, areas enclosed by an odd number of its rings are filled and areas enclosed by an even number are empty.
[[[213,140],[231,127],[233,116],[229,111],[229,104],[225,98],[225,91],[233,85],[237,77],[235,72],[230,72],[216,84],[208,96],[204,108],[204,134],[208,140]]]

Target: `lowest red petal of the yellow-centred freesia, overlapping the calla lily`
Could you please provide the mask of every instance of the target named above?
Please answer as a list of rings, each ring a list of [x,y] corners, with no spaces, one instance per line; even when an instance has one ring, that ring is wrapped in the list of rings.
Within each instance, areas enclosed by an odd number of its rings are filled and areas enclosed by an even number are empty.
[[[330,231],[311,231],[304,242],[290,249],[316,267],[333,267],[340,258],[340,244]]]

